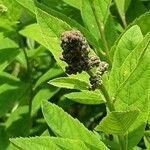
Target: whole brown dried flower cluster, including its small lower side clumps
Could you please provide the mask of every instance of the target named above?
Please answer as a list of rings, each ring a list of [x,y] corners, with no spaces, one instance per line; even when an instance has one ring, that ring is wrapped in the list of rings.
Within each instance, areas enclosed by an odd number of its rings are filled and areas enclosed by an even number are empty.
[[[88,72],[96,67],[95,75],[90,75],[90,89],[95,90],[102,84],[101,76],[107,70],[108,64],[101,62],[97,56],[89,56],[89,45],[80,31],[63,32],[61,47],[63,52],[60,59],[68,64],[66,67],[67,74]]]

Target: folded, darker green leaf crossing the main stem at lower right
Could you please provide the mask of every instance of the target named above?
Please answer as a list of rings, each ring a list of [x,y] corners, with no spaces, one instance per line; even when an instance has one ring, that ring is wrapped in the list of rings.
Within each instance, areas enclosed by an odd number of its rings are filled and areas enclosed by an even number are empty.
[[[104,131],[108,134],[127,134],[129,127],[137,119],[138,115],[138,110],[110,112],[96,127],[96,130]]]

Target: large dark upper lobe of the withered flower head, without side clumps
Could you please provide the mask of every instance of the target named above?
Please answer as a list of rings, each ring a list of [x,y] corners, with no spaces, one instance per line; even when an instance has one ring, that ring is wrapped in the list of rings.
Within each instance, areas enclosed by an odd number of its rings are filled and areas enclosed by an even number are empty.
[[[77,74],[88,69],[89,46],[85,37],[79,31],[66,31],[61,35],[63,49],[60,59],[68,66],[66,73]]]

